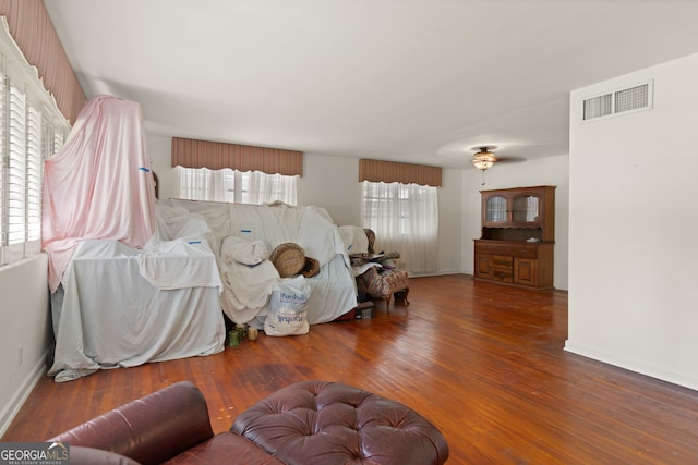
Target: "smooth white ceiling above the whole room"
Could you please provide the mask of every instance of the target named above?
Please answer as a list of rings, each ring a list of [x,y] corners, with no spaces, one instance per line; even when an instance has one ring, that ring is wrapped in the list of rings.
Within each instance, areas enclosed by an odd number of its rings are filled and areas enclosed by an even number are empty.
[[[568,93],[698,51],[695,0],[45,0],[149,133],[469,168],[568,154]]]

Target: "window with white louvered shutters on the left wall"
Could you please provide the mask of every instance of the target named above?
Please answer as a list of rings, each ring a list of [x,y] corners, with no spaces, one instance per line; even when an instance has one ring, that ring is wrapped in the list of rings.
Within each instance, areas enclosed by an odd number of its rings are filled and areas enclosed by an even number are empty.
[[[40,252],[44,159],[70,130],[7,39],[0,37],[0,266]]]

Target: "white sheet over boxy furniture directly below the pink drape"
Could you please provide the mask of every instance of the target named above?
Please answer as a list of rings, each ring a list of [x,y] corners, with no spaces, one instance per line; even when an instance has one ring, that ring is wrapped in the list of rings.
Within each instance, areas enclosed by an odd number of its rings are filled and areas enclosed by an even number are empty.
[[[69,381],[100,368],[220,352],[220,290],[215,257],[201,236],[160,242],[149,252],[83,241],[51,298],[49,375]]]

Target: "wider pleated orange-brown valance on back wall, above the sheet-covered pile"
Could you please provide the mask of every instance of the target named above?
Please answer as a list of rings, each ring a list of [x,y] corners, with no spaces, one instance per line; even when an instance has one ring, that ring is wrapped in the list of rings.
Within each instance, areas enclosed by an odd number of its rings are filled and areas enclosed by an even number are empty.
[[[172,167],[303,175],[303,152],[172,137]]]

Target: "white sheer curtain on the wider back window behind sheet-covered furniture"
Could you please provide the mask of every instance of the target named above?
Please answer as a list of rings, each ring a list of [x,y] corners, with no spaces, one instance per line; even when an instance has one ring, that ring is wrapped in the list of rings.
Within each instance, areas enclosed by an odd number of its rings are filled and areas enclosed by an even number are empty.
[[[298,176],[241,172],[224,168],[176,167],[179,197],[190,200],[231,201],[238,204],[297,203]]]

